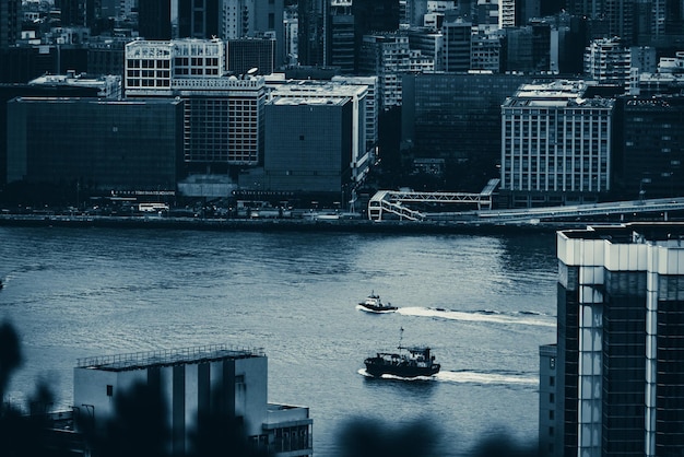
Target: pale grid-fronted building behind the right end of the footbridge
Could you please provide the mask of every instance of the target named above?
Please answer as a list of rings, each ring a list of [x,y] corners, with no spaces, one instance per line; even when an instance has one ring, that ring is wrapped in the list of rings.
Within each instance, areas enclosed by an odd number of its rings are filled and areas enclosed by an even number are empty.
[[[502,184],[512,207],[597,201],[611,190],[614,98],[586,83],[523,84],[502,105]]]

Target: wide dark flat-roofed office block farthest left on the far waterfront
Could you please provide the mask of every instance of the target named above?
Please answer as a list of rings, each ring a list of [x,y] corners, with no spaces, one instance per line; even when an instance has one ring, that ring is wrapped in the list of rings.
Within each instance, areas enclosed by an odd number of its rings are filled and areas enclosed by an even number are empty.
[[[8,103],[7,181],[82,195],[176,190],[182,102],[17,97]]]

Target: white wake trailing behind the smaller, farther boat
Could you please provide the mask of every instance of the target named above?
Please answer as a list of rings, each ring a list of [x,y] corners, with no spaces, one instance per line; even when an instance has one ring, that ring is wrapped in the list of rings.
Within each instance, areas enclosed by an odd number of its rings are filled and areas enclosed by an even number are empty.
[[[445,308],[426,308],[421,306],[400,307],[397,313],[406,316],[436,317],[451,320],[465,320],[494,324],[521,324],[528,326],[555,327],[556,318],[532,312],[503,314],[495,310],[481,309],[474,312],[452,310]]]

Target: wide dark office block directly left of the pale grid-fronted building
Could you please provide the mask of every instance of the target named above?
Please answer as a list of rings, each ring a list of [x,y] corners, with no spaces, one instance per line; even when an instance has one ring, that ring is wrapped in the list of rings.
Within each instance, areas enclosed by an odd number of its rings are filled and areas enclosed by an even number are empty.
[[[404,74],[401,140],[413,156],[443,159],[447,167],[468,164],[448,189],[480,191],[497,177],[502,131],[499,107],[524,82],[521,74]]]

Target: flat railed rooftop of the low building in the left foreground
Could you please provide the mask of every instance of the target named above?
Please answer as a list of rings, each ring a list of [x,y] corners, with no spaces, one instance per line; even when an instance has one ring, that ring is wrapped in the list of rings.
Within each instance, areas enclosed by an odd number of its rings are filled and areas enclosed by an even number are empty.
[[[149,366],[182,365],[187,363],[214,362],[224,359],[263,356],[266,354],[261,348],[245,349],[227,344],[210,344],[78,359],[76,367],[122,372]]]

